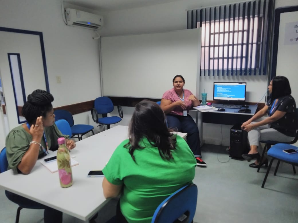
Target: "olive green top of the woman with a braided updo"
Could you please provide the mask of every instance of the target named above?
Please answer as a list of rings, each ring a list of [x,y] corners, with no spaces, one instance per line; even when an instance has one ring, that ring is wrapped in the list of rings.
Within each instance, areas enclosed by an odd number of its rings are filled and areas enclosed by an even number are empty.
[[[58,129],[57,125],[54,123],[49,127],[44,127],[44,133],[46,135],[46,141],[48,143],[49,149],[58,148],[57,139],[64,137],[69,139],[68,135],[63,135]],[[8,161],[8,168],[17,168],[18,164],[21,162],[24,154],[29,149],[29,144],[32,141],[32,135],[29,134],[22,125],[13,128],[6,137],[6,156]],[[46,143],[44,137],[41,137],[41,145],[46,148]],[[39,155],[42,155],[44,151],[41,149]]]

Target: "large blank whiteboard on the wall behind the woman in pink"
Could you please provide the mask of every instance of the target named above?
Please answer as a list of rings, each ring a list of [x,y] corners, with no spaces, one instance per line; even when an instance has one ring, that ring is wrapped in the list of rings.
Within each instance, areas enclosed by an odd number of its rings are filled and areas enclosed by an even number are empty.
[[[162,98],[180,74],[198,96],[201,29],[100,39],[104,96]]]

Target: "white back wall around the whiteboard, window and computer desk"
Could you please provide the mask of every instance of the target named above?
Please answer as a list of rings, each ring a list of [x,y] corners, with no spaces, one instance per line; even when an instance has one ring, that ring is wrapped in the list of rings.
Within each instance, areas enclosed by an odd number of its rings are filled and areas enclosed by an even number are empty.
[[[113,36],[134,33],[152,33],[165,32],[170,30],[186,29],[187,9],[196,9],[201,7],[223,5],[239,2],[238,0],[212,0],[196,1],[182,0],[172,3],[153,5],[148,7],[139,7],[130,10],[117,10],[112,12],[102,12],[105,19],[105,28],[100,31],[102,36]],[[283,7],[297,5],[297,0],[283,1],[276,0],[276,6]],[[176,74],[173,74],[175,76]],[[183,74],[182,74],[183,75]],[[201,77],[200,89],[205,89],[208,93],[207,100],[212,100],[214,81],[238,81],[247,82],[247,93],[249,102],[258,102],[267,90],[268,76],[246,76],[246,77]],[[169,80],[170,82],[171,80]],[[186,80],[187,83],[187,80]],[[132,83],[132,84],[137,84]],[[167,89],[164,89],[164,91]],[[162,96],[162,95],[161,95]],[[201,98],[201,97],[200,97]],[[261,100],[265,102],[265,98]],[[120,125],[129,123],[133,108],[123,108],[124,118]],[[117,115],[117,108],[112,115]],[[194,117],[194,115],[193,115]],[[217,125],[204,123],[205,142],[212,144],[229,145],[230,125]],[[214,137],[218,136],[218,137]]]

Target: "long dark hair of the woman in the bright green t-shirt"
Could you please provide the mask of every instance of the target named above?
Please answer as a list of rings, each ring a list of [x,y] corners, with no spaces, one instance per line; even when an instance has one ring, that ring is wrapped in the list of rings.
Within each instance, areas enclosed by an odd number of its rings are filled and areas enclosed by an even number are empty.
[[[129,142],[125,145],[134,161],[134,150],[144,149],[139,145],[142,138],[147,138],[151,145],[158,147],[159,155],[166,160],[173,158],[176,137],[167,128],[165,115],[159,105],[150,100],[142,100],[136,105],[129,124]]]

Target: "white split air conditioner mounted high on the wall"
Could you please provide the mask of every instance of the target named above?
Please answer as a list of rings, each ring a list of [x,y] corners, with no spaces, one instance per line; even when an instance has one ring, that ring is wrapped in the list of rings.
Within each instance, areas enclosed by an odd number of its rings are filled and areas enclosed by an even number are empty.
[[[93,30],[103,27],[103,16],[89,12],[66,8],[65,18],[68,26],[81,26]]]

